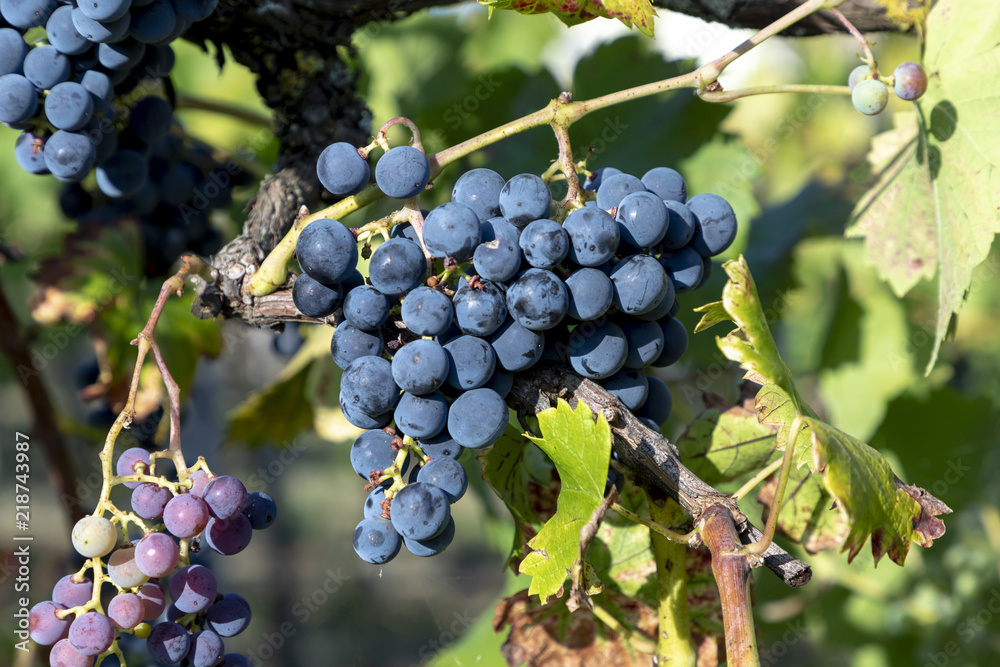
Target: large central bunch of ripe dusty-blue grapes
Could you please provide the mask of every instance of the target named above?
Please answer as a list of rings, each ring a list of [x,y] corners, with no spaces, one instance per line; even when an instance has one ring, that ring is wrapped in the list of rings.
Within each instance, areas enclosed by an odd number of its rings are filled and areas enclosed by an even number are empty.
[[[345,143],[323,152],[317,173],[336,195],[371,178]],[[420,150],[401,146],[378,161],[375,181],[407,199],[430,173]],[[334,315],[340,407],[365,429],[351,448],[370,491],[354,533],[363,560],[385,563],[403,546],[431,556],[450,544],[450,506],[468,485],[458,459],[503,434],[518,373],[569,366],[649,428],[670,415],[669,388],[646,371],[684,353],[676,296],[704,284],[711,258],[736,236],[736,216],[722,197],[688,198],[667,167],[641,178],[598,169],[584,194],[585,205],[554,220],[541,177],[473,169],[419,232],[410,222],[392,228],[367,279],[356,237],[339,221],[315,220],[300,234],[293,298],[307,316]],[[621,484],[614,470],[608,481]]]

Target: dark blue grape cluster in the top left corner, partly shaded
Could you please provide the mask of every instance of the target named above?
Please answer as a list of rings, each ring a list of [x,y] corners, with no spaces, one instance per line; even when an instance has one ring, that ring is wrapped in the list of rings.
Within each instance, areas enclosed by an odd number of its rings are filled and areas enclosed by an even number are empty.
[[[67,184],[69,218],[138,217],[150,275],[185,250],[218,249],[208,214],[238,185],[207,151],[171,135],[171,104],[146,94],[174,66],[170,43],[217,3],[0,0],[0,121],[21,130],[18,164]]]

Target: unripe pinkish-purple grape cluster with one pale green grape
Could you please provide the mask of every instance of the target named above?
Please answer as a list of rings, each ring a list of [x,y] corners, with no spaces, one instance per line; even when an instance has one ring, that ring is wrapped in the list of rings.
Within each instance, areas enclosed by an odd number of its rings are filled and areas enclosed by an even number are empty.
[[[149,466],[149,452],[134,447],[122,453],[116,470],[120,476],[145,474]],[[73,547],[91,560],[84,570],[60,579],[52,599],[35,605],[28,619],[35,642],[54,644],[52,667],[91,667],[95,656],[110,655],[119,634],[145,638],[149,656],[159,664],[251,664],[242,655],[227,654],[223,642],[249,625],[250,605],[240,595],[219,593],[215,575],[205,565],[178,568],[178,540],[188,556],[202,546],[223,555],[239,553],[254,529],[274,521],[275,503],[265,493],[247,493],[229,475],[209,477],[196,470],[189,479],[191,487],[180,493],[150,481],[122,482],[132,489],[135,515],[162,522],[127,546],[118,546],[121,531],[103,516],[84,517],[73,527]],[[98,584],[85,575],[90,569]],[[161,580],[168,576],[164,586]],[[117,589],[106,607],[100,606],[102,583]]]

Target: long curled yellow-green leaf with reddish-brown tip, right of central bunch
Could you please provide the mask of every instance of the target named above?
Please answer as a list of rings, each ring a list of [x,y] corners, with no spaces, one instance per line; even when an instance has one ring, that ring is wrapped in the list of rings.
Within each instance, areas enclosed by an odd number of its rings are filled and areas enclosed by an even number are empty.
[[[728,359],[747,371],[748,378],[762,385],[756,400],[761,423],[776,426],[778,442],[782,442],[787,441],[785,429],[791,427],[792,421],[803,419],[794,460],[799,466],[808,463],[809,469],[822,477],[823,486],[843,515],[847,533],[841,549],[848,552],[848,560],[857,556],[871,536],[876,563],[888,554],[893,562],[902,565],[911,542],[929,546],[943,533],[943,524],[925,515],[950,510],[922,489],[904,488],[876,450],[816,418],[799,397],[791,373],[778,356],[746,260],[742,256],[730,260],[723,269],[729,280],[719,303],[738,328],[716,342]],[[699,310],[717,314],[718,304]],[[703,320],[696,331],[705,326]],[[803,435],[808,436],[807,443]],[[808,500],[806,496],[796,498],[795,494],[789,498],[791,503]],[[812,507],[820,506],[814,501]],[[804,516],[809,508],[800,509]]]

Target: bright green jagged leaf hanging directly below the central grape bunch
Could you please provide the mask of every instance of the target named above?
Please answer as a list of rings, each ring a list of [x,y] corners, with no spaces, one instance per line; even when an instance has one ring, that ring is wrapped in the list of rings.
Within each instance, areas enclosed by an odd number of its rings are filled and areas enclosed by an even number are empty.
[[[580,529],[604,498],[611,428],[582,402],[573,410],[560,399],[537,417],[542,437],[529,437],[552,459],[561,488],[555,516],[528,542],[532,551],[520,570],[531,576],[529,594],[544,604],[566,581],[580,554]]]

